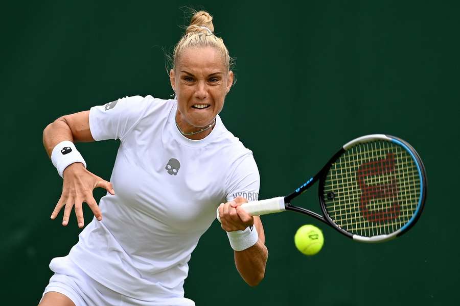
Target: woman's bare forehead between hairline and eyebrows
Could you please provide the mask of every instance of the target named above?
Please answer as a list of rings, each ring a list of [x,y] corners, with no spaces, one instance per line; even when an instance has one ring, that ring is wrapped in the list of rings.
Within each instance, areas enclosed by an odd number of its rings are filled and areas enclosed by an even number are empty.
[[[224,72],[225,65],[222,55],[213,47],[187,48],[182,51],[177,61],[178,70],[192,73]]]

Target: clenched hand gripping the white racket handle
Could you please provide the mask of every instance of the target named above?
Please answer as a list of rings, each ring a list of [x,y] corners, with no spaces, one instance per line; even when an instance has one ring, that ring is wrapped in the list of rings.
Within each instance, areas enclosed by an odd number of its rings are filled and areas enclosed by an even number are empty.
[[[219,218],[224,231],[244,231],[246,227],[254,225],[254,218],[241,208],[243,203],[247,203],[247,200],[239,196],[219,206]]]

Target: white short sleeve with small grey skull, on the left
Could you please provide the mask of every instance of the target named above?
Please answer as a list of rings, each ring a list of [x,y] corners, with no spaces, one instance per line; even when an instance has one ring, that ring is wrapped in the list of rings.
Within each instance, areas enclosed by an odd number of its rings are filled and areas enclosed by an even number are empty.
[[[94,140],[121,139],[141,120],[149,106],[142,96],[124,97],[89,110]]]

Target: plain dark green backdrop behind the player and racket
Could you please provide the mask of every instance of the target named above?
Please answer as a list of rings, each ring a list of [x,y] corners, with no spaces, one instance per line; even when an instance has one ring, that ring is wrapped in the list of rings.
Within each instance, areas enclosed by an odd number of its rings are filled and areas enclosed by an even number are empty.
[[[261,198],[290,192],[342,144],[365,134],[407,140],[428,176],[421,219],[388,243],[356,243],[293,213],[263,217],[269,258],[255,288],[240,278],[216,221],[192,254],[186,296],[197,305],[455,303],[456,2],[30,1],[3,4],[0,13],[2,304],[36,304],[52,274],[50,260],[67,254],[80,232],[74,216],[67,227],[49,219],[62,180],[43,150],[44,127],[126,95],[168,98],[163,48],[171,50],[178,25],[188,24],[184,5],[214,15],[216,33],[236,58],[238,80],[221,117],[254,151]],[[117,147],[78,145],[88,169],[105,179]],[[316,192],[299,203],[319,208]],[[325,235],[314,257],[293,244],[306,223]]]

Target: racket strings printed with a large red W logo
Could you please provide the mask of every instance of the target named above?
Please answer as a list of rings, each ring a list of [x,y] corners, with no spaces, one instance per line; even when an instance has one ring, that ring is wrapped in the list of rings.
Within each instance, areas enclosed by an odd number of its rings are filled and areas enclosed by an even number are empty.
[[[361,143],[332,164],[324,185],[326,211],[343,230],[364,237],[400,230],[417,210],[420,177],[403,147]]]

